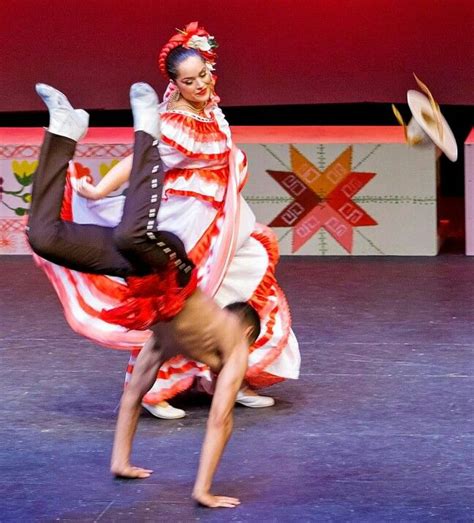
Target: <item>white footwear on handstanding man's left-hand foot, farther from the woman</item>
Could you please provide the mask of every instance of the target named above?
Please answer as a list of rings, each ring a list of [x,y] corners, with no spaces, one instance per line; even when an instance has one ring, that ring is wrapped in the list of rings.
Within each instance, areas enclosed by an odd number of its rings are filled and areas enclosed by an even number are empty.
[[[87,132],[88,113],[74,109],[66,96],[50,85],[36,84],[36,92],[49,111],[48,131],[78,142]]]

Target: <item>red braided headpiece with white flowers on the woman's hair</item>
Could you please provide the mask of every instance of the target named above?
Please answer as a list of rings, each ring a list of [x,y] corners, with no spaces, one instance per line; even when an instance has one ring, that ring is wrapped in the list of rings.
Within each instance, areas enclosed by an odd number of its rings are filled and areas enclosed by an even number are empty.
[[[217,42],[204,28],[198,26],[198,22],[191,22],[182,31],[177,29],[177,33],[170,38],[168,43],[161,49],[158,56],[158,67],[163,75],[168,78],[166,72],[166,58],[170,52],[182,45],[187,49],[196,49],[201,53],[206,63],[211,66],[215,64],[217,55],[214,49],[217,47]]]

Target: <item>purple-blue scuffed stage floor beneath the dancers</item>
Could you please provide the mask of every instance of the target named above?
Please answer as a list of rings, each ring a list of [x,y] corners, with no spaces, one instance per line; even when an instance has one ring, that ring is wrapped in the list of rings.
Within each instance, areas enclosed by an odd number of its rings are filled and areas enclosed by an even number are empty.
[[[0,521],[474,520],[474,260],[285,258],[303,357],[275,407],[236,408],[216,493],[190,499],[208,400],[140,419],[134,463],[108,463],[127,354],[75,335],[29,257],[0,257]]]

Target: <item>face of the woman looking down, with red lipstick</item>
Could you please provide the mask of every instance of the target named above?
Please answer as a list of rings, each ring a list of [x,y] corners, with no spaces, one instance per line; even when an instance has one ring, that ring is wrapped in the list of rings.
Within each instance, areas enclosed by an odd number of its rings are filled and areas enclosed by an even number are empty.
[[[202,58],[199,56],[186,58],[177,67],[177,72],[175,83],[183,98],[198,104],[209,100],[212,76]]]

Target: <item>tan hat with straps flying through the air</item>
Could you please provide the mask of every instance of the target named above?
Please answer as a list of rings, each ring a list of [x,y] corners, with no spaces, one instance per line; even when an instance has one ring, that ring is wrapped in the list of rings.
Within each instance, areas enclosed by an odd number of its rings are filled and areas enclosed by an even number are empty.
[[[453,132],[428,87],[416,75],[414,76],[426,95],[412,89],[407,92],[408,107],[412,114],[408,125],[403,121],[397,108],[392,105],[397,120],[405,130],[405,139],[409,145],[433,142],[452,162],[455,162],[458,158],[458,146]]]

